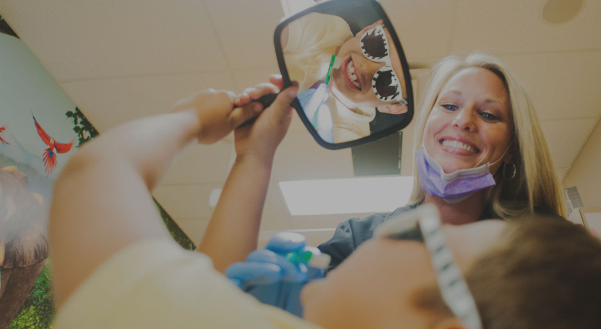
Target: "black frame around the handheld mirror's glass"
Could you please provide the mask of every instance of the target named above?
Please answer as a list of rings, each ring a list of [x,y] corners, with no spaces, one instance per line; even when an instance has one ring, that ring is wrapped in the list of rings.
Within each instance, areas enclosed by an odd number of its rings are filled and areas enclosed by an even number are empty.
[[[316,4],[311,8],[300,11],[299,13],[296,13],[293,16],[284,17],[284,19],[281,22],[279,22],[279,24],[276,27],[275,32],[273,34],[273,44],[275,44],[275,54],[276,54],[276,58],[278,59],[279,71],[282,73],[282,80],[284,82],[284,88],[292,85],[292,82],[290,81],[290,77],[288,76],[288,70],[286,69],[286,64],[284,62],[284,52],[282,51],[282,44],[281,44],[281,34],[282,34],[282,30],[285,28],[285,26],[288,26],[288,24],[290,24],[293,20],[295,20],[301,16],[304,16],[306,14],[309,14],[309,13],[316,13],[316,12],[320,13],[322,11],[328,12],[329,10],[331,10],[331,8],[340,7],[340,6],[350,7],[352,5],[355,5],[356,7],[359,7],[359,6],[373,7],[373,9],[376,10],[376,12],[379,14],[381,19],[384,21],[384,26],[392,27],[392,22],[388,19],[388,16],[386,16],[386,13],[383,10],[382,6],[375,0],[329,0],[326,2],[322,2],[321,4]],[[305,115],[305,113],[302,109],[301,103],[299,103],[298,99],[295,98],[294,101],[292,102],[292,106],[294,107],[294,109],[296,109],[296,112],[301,117],[303,124],[305,125],[307,130],[311,133],[311,136],[313,136],[313,138],[316,140],[316,142],[319,143],[319,145],[323,146],[324,148],[342,149],[342,148],[349,148],[352,146],[361,145],[361,144],[368,143],[368,142],[373,142],[374,140],[380,139],[382,137],[386,137],[389,134],[392,134],[392,133],[402,130],[403,128],[407,127],[407,125],[409,125],[411,120],[413,119],[413,112],[414,112],[413,86],[411,84],[411,75],[409,73],[409,64],[407,63],[407,59],[405,58],[405,55],[403,52],[403,47],[401,47],[401,43],[398,40],[396,31],[394,31],[394,28],[391,28],[391,29],[389,29],[389,32],[391,34],[392,41],[394,42],[394,45],[397,48],[397,51],[400,52],[398,54],[398,56],[401,61],[401,66],[403,67],[403,74],[404,74],[405,84],[406,84],[406,88],[407,88],[406,101],[407,101],[408,110],[407,110],[406,115],[404,116],[403,120],[398,122],[397,124],[392,125],[391,127],[388,127],[382,131],[378,131],[377,133],[370,134],[370,136],[365,136],[365,137],[362,137],[359,139],[350,140],[349,142],[328,143],[325,140],[323,140],[321,136],[319,136],[319,134],[317,133],[316,130],[313,129],[311,122],[307,119],[307,116]]]

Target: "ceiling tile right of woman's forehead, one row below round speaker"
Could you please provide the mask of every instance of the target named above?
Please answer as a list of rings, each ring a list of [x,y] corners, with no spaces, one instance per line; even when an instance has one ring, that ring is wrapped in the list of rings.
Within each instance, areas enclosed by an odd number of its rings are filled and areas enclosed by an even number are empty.
[[[601,50],[507,55],[501,59],[526,88],[540,119],[601,115]]]

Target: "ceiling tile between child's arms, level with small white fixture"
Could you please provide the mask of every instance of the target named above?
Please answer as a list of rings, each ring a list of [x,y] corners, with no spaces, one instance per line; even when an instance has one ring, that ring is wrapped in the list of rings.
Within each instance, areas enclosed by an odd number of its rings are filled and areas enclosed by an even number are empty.
[[[172,218],[211,217],[209,195],[221,184],[159,185],[153,196]]]

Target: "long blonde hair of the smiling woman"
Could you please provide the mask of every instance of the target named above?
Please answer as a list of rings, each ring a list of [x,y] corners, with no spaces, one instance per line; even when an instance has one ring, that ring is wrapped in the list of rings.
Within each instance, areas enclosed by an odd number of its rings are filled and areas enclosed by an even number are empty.
[[[501,166],[494,174],[496,185],[487,189],[486,205],[503,219],[532,213],[534,207],[547,208],[565,216],[560,183],[532,101],[507,65],[492,56],[481,53],[471,53],[463,59],[448,56],[436,64],[416,121],[414,150],[421,149],[427,118],[442,87],[454,74],[468,67],[486,68],[500,77],[507,88],[513,112],[510,152],[513,154],[516,175],[511,180],[505,180],[505,166]],[[506,174],[510,176],[513,172],[507,170]],[[417,166],[413,166],[413,177],[415,183],[409,204],[420,204],[426,194],[419,182]]]

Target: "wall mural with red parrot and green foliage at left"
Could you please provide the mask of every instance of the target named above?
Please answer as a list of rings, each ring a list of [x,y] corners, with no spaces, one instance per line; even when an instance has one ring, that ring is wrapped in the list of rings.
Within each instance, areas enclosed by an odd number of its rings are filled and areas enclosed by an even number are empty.
[[[49,328],[52,184],[98,131],[0,17],[0,329]],[[195,249],[157,205],[171,235]]]

